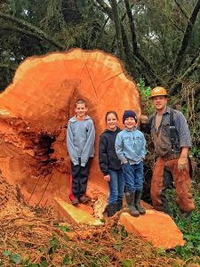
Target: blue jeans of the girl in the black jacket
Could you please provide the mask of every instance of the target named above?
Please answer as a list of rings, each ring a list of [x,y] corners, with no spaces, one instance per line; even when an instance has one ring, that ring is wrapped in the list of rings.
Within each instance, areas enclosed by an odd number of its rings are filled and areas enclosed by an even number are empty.
[[[108,170],[110,175],[109,185],[109,199],[108,204],[116,204],[116,202],[122,201],[124,197],[124,178],[122,170],[112,171]]]

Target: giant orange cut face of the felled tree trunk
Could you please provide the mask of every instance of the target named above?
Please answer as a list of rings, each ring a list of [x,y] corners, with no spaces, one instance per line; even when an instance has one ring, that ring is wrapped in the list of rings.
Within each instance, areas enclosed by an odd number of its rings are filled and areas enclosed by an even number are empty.
[[[89,190],[98,198],[108,194],[98,165],[106,112],[116,110],[120,120],[124,109],[140,116],[137,86],[121,63],[107,53],[80,49],[31,57],[0,95],[0,169],[31,205],[51,206],[56,197],[69,200],[66,125],[79,98],[87,101],[96,129]]]

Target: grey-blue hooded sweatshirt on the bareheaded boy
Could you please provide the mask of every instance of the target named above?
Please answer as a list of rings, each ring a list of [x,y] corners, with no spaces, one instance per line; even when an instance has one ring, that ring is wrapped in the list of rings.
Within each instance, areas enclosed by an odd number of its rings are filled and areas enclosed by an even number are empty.
[[[88,159],[94,156],[95,130],[92,118],[88,115],[84,120],[77,120],[76,116],[68,121],[67,147],[68,154],[74,165],[85,166]]]

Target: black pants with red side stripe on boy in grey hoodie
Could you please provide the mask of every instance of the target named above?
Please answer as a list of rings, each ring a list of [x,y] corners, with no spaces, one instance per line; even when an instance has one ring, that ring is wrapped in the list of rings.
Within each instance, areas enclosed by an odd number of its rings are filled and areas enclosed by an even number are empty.
[[[91,166],[91,158],[89,158],[88,162],[85,166],[80,165],[73,165],[71,162],[71,175],[72,175],[72,182],[71,182],[71,193],[70,199],[73,198],[80,198],[84,196],[86,189],[87,189],[87,180],[88,175],[90,172]]]

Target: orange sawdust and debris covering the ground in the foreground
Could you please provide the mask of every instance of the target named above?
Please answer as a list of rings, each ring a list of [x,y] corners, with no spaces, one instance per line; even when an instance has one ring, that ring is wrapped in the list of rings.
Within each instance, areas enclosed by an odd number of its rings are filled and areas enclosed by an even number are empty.
[[[47,210],[31,209],[20,190],[0,175],[0,265],[2,266],[172,266],[177,260],[155,250],[117,225],[56,222]],[[35,263],[35,264],[34,264]]]

